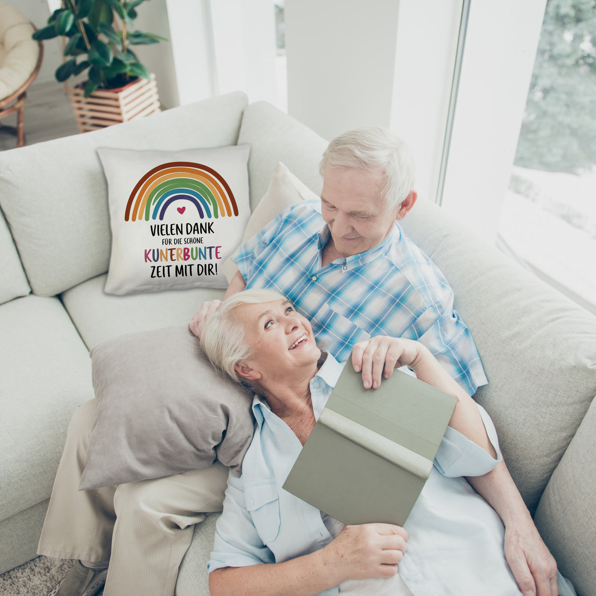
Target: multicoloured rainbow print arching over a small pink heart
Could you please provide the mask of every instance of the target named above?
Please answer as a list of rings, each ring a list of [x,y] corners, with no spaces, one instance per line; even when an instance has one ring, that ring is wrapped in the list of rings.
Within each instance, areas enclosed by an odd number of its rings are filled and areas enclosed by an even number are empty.
[[[201,219],[238,215],[234,194],[218,172],[202,163],[169,162],[154,167],[136,183],[124,221],[162,221],[167,208],[181,200],[193,203]],[[178,212],[184,213],[185,208],[178,207]]]

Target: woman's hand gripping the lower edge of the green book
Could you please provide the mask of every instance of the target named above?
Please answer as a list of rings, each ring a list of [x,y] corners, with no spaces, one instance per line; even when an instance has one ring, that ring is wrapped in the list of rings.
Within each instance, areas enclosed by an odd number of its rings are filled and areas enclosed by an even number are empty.
[[[345,526],[323,550],[325,566],[333,566],[341,581],[390,578],[406,551],[408,532],[387,523]]]

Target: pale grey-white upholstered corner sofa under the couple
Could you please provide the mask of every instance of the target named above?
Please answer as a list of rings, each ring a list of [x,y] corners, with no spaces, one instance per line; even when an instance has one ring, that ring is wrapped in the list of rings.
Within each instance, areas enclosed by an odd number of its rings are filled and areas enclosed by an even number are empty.
[[[269,104],[229,94],[98,132],[0,154],[0,572],[35,557],[67,423],[93,397],[88,350],[185,324],[220,290],[117,297],[107,188],[95,148],[249,143],[252,206],[278,161],[318,192],[326,141]],[[561,572],[596,594],[596,318],[419,200],[403,221],[442,269],[470,327],[514,480]],[[195,527],[177,594],[208,594],[218,514]]]

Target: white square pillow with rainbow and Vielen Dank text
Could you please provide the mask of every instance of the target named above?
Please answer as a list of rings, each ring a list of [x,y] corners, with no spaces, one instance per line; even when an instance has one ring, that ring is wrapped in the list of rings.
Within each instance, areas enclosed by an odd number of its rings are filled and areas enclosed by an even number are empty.
[[[98,148],[112,232],[105,293],[227,287],[222,264],[250,218],[249,150]]]

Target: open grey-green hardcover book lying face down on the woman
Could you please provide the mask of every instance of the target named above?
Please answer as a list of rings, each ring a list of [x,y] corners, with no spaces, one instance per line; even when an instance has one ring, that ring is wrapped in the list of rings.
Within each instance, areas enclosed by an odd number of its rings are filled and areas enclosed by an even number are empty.
[[[345,524],[403,526],[456,403],[399,370],[364,389],[348,361],[283,488]]]

